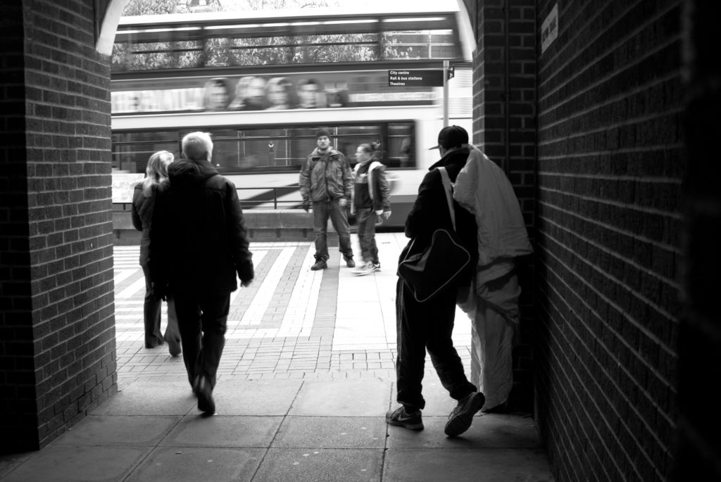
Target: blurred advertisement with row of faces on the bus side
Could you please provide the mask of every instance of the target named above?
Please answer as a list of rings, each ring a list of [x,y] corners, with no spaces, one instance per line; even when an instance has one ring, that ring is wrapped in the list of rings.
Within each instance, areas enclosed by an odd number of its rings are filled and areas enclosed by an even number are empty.
[[[387,75],[356,71],[124,80],[112,84],[112,114],[433,104],[436,94],[430,84],[395,89]]]

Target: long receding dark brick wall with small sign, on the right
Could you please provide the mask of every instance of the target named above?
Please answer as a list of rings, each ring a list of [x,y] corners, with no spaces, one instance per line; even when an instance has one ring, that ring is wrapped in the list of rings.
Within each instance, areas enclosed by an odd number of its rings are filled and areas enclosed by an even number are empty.
[[[681,1],[557,3],[559,36],[538,51],[537,421],[559,482],[663,481],[677,418]],[[538,4],[540,26],[555,2]]]

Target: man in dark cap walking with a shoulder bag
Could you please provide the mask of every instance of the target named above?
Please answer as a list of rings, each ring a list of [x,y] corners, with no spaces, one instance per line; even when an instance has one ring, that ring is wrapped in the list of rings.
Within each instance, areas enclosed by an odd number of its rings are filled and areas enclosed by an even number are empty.
[[[418,187],[418,197],[408,213],[405,235],[413,241],[413,250],[423,251],[430,244],[433,232],[445,228],[452,230],[451,215],[448,213],[446,191],[443,187],[439,167],[446,168],[451,182],[456,181],[459,171],[465,166],[469,155],[468,133],[464,128],[451,125],[438,133],[441,160],[430,166],[423,182]],[[466,250],[477,256],[476,221],[474,216],[453,202],[456,215],[456,233]],[[404,259],[409,246],[402,251]],[[386,414],[386,422],[412,430],[423,429],[420,411],[425,407],[421,393],[421,382],[428,350],[435,372],[451,398],[458,401],[446,422],[445,432],[455,437],[471,426],[474,414],[481,409],[485,398],[475,385],[468,381],[461,358],[454,348],[454,318],[456,316],[456,293],[460,285],[469,285],[474,275],[475,261],[459,277],[459,281],[448,286],[426,302],[417,301],[412,291],[398,278],[396,289],[396,323],[398,356],[396,360],[397,409]]]

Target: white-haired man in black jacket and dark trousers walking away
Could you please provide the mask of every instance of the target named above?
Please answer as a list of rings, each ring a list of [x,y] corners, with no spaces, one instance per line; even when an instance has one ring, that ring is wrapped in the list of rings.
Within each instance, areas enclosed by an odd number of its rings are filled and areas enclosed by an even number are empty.
[[[235,186],[211,164],[213,141],[182,140],[182,157],[158,189],[150,233],[154,290],[175,300],[183,361],[198,409],[216,411],[213,388],[225,344],[230,294],[255,277]]]

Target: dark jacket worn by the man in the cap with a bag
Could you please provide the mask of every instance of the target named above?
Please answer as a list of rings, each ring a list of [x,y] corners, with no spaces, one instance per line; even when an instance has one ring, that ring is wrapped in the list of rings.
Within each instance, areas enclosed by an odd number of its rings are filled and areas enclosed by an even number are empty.
[[[458,173],[466,165],[468,154],[468,148],[459,148],[446,153],[446,156],[428,168],[428,174],[423,177],[423,181],[418,187],[418,197],[416,197],[405,222],[405,235],[411,239],[415,238],[414,253],[423,251],[430,244],[430,239],[436,229],[453,229],[446,192],[443,189],[443,179],[441,179],[441,172],[436,168],[445,167],[451,182],[456,182]],[[475,275],[478,256],[476,219],[458,202],[454,201],[453,204],[456,213],[456,232],[461,243],[471,254],[468,271],[459,278],[459,284],[467,285]],[[400,260],[404,259],[407,249],[408,246],[403,249]]]

